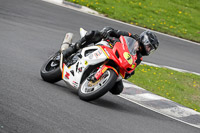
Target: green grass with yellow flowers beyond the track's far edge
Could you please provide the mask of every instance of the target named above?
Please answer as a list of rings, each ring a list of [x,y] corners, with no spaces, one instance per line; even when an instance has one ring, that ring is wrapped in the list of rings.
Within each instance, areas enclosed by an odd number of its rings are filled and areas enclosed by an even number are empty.
[[[200,0],[68,1],[110,18],[200,42]]]

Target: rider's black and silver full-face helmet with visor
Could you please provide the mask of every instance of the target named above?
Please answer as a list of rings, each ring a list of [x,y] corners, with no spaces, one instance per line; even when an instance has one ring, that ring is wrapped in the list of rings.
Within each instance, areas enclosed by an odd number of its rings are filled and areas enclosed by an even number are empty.
[[[140,34],[140,46],[142,47],[142,55],[149,55],[153,51],[155,51],[158,46],[159,42],[154,33],[147,30]]]

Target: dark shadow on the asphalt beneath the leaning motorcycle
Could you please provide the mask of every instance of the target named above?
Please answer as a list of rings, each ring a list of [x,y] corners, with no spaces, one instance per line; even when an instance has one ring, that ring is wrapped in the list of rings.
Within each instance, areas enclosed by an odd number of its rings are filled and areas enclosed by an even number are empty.
[[[43,81],[42,79],[40,80]],[[54,89],[59,90],[63,93],[67,93],[68,95],[75,97],[75,99],[78,99],[77,90],[73,89],[72,87],[69,87],[64,82],[58,82],[55,84],[51,84],[45,81],[43,82],[48,84],[47,87],[49,85],[54,86],[53,87]],[[96,106],[96,108],[112,111],[113,113],[125,113],[125,114],[130,114],[130,115],[137,115],[141,117],[148,117],[151,119],[157,119],[161,121],[166,120],[165,117],[163,116],[161,117],[160,115],[158,115],[157,113],[153,111],[149,111],[148,109],[143,109],[144,107],[141,107],[138,104],[131,103],[121,97],[112,95],[110,93],[107,93],[103,97],[94,101],[85,102],[85,101],[80,100],[80,103],[81,102],[82,104],[85,104],[85,106],[92,105],[92,106]]]

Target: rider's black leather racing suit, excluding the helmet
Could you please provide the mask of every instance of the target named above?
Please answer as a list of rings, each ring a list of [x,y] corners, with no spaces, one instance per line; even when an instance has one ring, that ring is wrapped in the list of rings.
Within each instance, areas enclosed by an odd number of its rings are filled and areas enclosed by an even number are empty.
[[[77,50],[79,50],[81,48],[84,48],[92,43],[95,44],[95,43],[101,41],[103,38],[105,40],[107,37],[119,38],[121,35],[132,37],[133,39],[139,41],[139,36],[137,34],[131,34],[126,31],[116,30],[111,27],[104,27],[101,31],[92,30],[92,31],[87,32],[84,37],[82,37],[79,41],[77,41],[75,43],[75,45],[70,46],[68,49],[66,49],[64,51],[63,55],[64,55],[64,57],[67,57],[67,56],[71,55],[72,53],[75,53]],[[137,65],[139,65],[141,61],[142,61],[142,54],[138,50],[137,51],[137,60],[135,63]],[[131,77],[134,74],[134,72],[135,71],[133,71],[133,73],[131,73],[131,74],[126,74],[125,79]],[[123,88],[124,88],[124,86],[123,86],[122,80],[120,80],[120,81],[116,82],[116,84],[110,90],[110,92],[112,94],[118,95],[123,91]]]

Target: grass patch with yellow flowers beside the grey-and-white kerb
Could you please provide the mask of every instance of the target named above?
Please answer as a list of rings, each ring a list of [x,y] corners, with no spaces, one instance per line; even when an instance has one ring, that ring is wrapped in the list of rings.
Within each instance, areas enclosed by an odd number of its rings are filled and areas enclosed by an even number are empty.
[[[200,112],[200,76],[140,65],[128,81]]]

